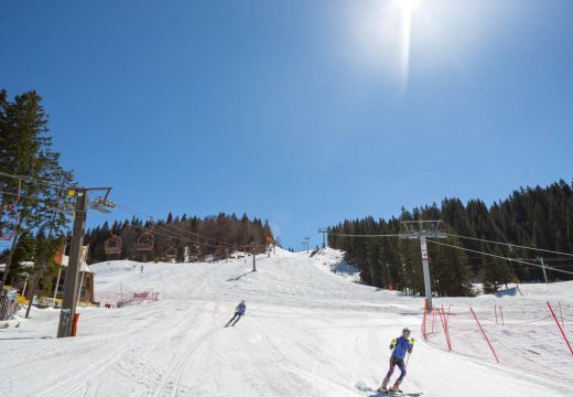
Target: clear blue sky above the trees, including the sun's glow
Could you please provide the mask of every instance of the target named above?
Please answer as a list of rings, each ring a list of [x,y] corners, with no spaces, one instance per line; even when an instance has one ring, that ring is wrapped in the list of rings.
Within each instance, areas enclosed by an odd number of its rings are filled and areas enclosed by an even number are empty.
[[[0,86],[43,96],[82,184],[158,217],[246,212],[296,249],[571,181],[573,3],[404,1],[409,40],[399,0],[2,2]]]

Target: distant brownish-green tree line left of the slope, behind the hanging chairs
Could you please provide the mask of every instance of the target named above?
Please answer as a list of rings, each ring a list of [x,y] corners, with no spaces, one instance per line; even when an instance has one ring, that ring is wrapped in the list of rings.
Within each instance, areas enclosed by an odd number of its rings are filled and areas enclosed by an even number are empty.
[[[108,254],[106,242],[116,238],[120,253]],[[141,249],[141,243],[152,243]],[[219,260],[235,251],[263,253],[268,244],[274,240],[271,227],[257,217],[250,219],[247,214],[220,213],[216,216],[173,216],[166,219],[142,221],[138,217],[111,225],[88,229],[85,244],[89,245],[88,264],[109,259],[132,260]]]

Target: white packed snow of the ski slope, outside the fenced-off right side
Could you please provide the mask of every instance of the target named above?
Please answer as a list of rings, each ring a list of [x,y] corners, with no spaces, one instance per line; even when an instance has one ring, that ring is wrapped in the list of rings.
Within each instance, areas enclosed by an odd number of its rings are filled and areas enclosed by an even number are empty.
[[[417,339],[404,391],[424,396],[571,396],[573,385],[447,353],[420,334],[423,300],[353,282],[338,251],[219,262],[102,262],[99,294],[159,291],[158,302],[79,309],[77,337],[55,339],[58,311],[0,330],[6,396],[375,396],[389,343]],[[572,283],[526,288],[505,305],[570,304]],[[245,299],[246,316],[224,328]],[[474,307],[496,298],[450,299]],[[15,328],[19,322],[20,326]],[[571,362],[573,371],[573,361]],[[396,375],[394,375],[396,376]]]

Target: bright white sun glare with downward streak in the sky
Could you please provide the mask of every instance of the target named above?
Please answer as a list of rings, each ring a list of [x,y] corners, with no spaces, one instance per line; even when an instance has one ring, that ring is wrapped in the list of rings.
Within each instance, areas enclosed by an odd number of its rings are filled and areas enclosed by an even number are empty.
[[[480,0],[345,0],[337,9],[336,55],[358,78],[383,84],[404,98],[415,81],[466,73],[490,51],[515,2]],[[338,28],[337,23],[335,28]],[[340,51],[342,50],[342,51]],[[386,89],[391,88],[391,89]],[[394,89],[397,92],[394,92]]]

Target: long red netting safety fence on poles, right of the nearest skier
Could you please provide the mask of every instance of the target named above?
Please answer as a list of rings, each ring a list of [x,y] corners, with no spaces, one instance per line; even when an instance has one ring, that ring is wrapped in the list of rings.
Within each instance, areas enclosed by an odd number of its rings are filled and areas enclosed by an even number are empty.
[[[421,332],[437,348],[573,384],[573,308],[511,302],[490,308],[436,307]]]

